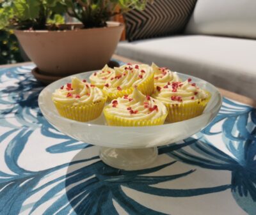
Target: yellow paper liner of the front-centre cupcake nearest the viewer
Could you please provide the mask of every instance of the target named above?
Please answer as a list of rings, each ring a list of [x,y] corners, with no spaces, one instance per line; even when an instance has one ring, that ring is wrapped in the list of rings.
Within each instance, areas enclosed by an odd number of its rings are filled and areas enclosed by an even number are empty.
[[[124,119],[106,112],[106,106],[103,110],[104,116],[109,126],[157,126],[164,124],[167,114],[158,117],[157,119]]]

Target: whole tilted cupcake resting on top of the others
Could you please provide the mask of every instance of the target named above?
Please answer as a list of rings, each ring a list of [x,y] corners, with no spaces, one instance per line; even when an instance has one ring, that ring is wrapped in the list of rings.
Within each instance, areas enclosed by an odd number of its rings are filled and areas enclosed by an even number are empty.
[[[154,72],[147,64],[127,64],[114,68],[111,75],[103,87],[103,91],[108,95],[109,101],[131,94],[134,87],[145,95],[150,95],[154,91]]]

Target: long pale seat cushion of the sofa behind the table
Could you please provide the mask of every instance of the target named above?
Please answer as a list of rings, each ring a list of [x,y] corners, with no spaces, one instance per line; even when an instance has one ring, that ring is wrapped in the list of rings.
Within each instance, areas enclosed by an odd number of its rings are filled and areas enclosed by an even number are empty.
[[[120,42],[116,54],[203,78],[256,99],[256,40],[219,36],[170,36]]]

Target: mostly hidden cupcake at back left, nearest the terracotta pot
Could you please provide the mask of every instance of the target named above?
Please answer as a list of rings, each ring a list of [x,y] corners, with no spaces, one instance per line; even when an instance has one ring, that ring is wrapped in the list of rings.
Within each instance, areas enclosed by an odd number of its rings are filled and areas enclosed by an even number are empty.
[[[90,75],[90,82],[95,85],[96,87],[99,87],[102,89],[104,85],[106,84],[106,80],[113,75],[114,70],[106,64],[102,70],[97,71],[95,73],[92,73]]]

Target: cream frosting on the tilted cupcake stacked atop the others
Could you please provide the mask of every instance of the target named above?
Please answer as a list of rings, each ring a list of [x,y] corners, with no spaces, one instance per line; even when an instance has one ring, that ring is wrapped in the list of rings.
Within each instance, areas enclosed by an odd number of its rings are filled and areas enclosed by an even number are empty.
[[[123,90],[140,85],[153,74],[153,71],[147,64],[127,64],[114,68],[114,70],[114,74],[108,78],[103,88],[108,93],[113,93],[116,89]]]

